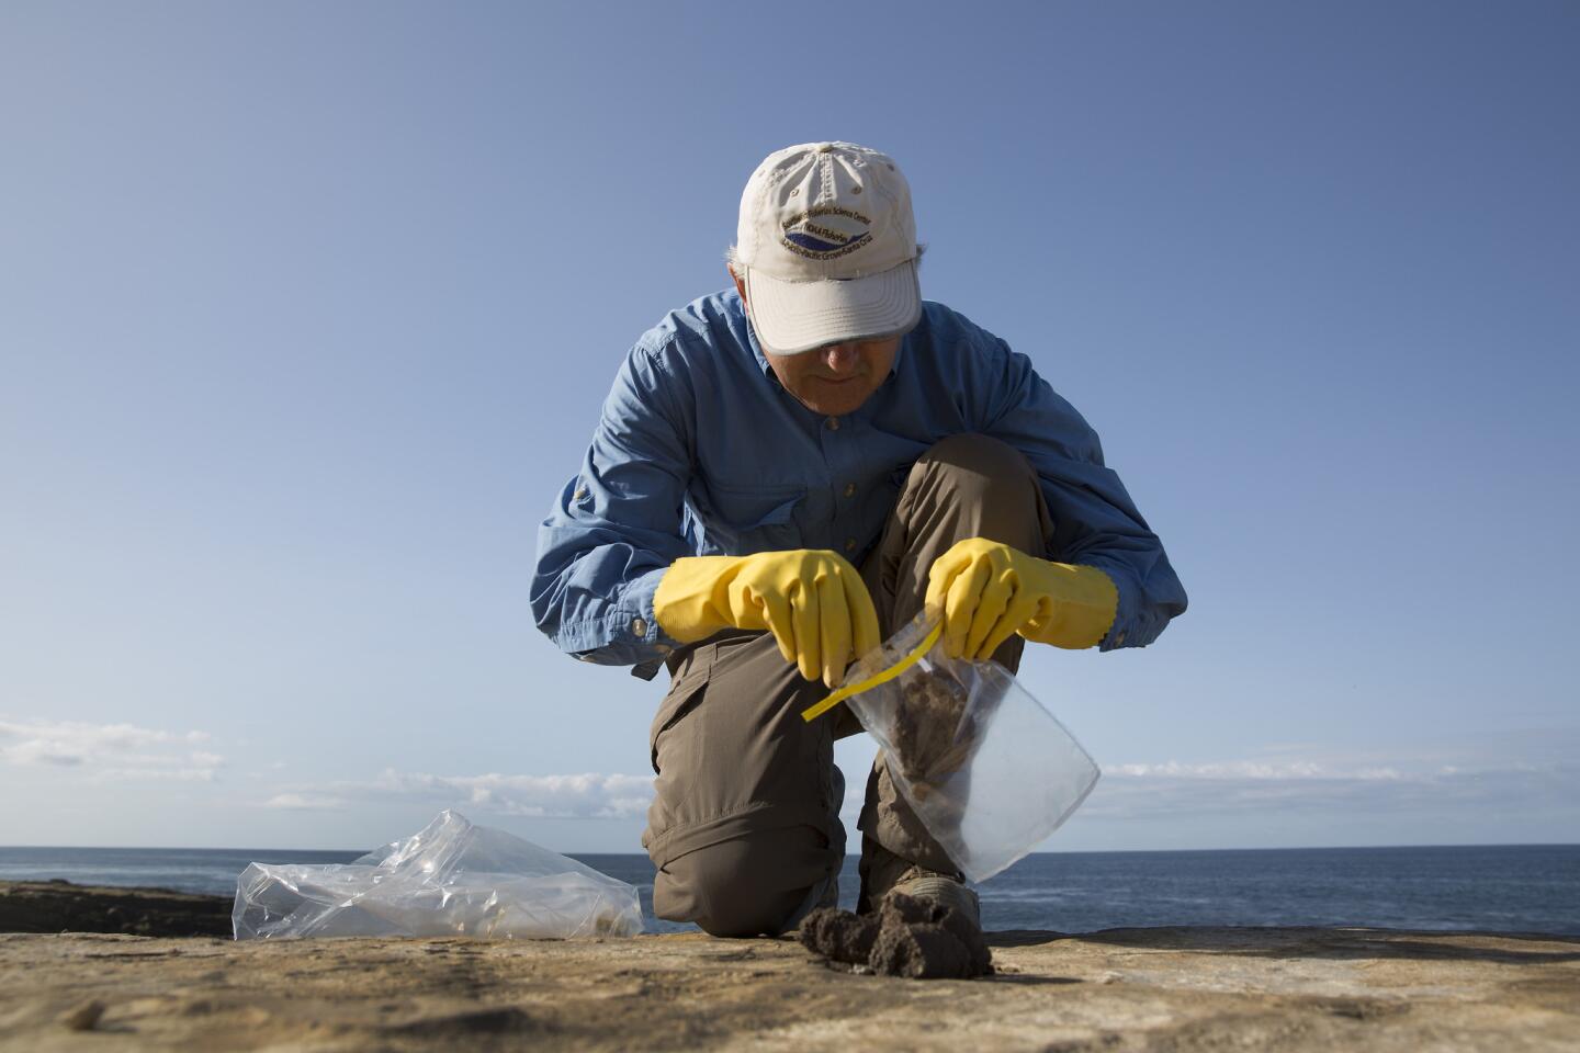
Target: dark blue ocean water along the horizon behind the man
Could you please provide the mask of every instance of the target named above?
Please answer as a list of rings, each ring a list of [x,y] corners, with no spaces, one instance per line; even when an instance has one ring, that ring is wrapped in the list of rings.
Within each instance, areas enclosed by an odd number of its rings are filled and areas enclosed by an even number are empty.
[[[0,848],[0,881],[156,886],[235,895],[250,862],[343,864],[360,851]],[[577,856],[638,887],[646,856]],[[841,903],[856,898],[856,859]],[[1065,933],[1133,925],[1367,925],[1580,936],[1580,845],[1296,848],[1202,853],[1043,853],[978,889],[983,925]]]

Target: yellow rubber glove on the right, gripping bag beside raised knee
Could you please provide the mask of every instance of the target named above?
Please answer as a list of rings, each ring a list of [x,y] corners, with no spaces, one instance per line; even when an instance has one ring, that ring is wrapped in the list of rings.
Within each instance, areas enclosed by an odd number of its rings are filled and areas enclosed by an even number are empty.
[[[1101,643],[1119,590],[1097,567],[1055,564],[972,537],[934,560],[927,605],[943,609],[945,654],[981,661],[1011,633],[1071,650]]]

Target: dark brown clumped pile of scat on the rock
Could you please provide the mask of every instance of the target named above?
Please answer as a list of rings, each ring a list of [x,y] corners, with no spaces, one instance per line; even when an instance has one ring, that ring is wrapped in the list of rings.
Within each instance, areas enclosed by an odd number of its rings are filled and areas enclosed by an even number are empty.
[[[956,911],[891,892],[877,914],[818,908],[801,922],[801,942],[830,963],[918,980],[967,980],[992,972],[981,928]]]

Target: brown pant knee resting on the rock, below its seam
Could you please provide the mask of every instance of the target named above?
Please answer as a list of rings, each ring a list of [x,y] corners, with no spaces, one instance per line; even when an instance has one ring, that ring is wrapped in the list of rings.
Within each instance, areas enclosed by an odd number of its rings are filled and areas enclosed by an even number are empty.
[[[757,830],[660,867],[653,908],[667,920],[695,922],[709,936],[777,936],[841,862],[809,826]]]

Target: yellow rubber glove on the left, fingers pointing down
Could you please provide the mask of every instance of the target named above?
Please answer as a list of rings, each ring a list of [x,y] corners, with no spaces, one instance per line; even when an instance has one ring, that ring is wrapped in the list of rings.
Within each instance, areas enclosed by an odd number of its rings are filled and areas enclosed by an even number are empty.
[[[676,559],[659,579],[653,614],[684,644],[732,625],[766,628],[785,661],[828,687],[839,687],[845,666],[880,643],[861,575],[822,549]]]

